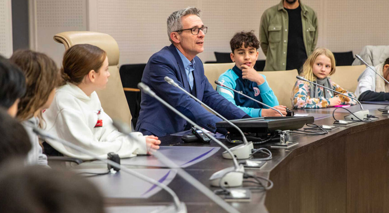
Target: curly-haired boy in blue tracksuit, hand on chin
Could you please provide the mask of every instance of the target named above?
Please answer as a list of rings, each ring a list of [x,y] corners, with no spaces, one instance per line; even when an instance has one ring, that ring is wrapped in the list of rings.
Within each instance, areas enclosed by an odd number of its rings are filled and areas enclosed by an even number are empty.
[[[254,70],[258,58],[259,41],[252,31],[236,33],[230,41],[230,54],[235,66],[220,75],[219,81],[224,85],[261,101],[286,115],[286,106],[279,105],[277,97],[266,81],[265,75]],[[272,109],[252,101],[224,87],[217,86],[217,92],[242,109],[251,117],[280,116]]]

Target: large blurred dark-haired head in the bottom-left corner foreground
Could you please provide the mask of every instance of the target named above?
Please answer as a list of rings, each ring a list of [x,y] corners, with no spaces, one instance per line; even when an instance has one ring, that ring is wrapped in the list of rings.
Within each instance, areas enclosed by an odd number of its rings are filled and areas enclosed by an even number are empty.
[[[71,171],[7,164],[0,174],[0,191],[3,212],[104,212],[95,185]]]

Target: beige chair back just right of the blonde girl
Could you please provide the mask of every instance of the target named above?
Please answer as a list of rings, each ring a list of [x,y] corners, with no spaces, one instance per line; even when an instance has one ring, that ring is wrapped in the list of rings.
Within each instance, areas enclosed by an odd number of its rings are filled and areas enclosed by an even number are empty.
[[[365,65],[336,66],[335,73],[330,76],[343,89],[354,93],[358,85],[358,77],[366,69]]]

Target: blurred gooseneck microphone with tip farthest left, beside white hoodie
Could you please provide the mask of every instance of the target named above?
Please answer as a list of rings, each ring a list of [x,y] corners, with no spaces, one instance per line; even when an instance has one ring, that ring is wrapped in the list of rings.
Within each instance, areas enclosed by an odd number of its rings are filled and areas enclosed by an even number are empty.
[[[167,187],[165,184],[163,183],[160,183],[152,178],[149,178],[148,176],[145,176],[145,175],[142,175],[141,173],[138,173],[138,172],[135,172],[135,171],[132,171],[131,169],[128,169],[126,167],[123,167],[123,166],[120,166],[120,164],[114,162],[114,161],[111,161],[109,159],[105,159],[105,158],[102,158],[96,154],[94,154],[93,152],[89,151],[89,150],[86,150],[82,147],[79,147],[73,143],[70,143],[66,140],[63,140],[61,138],[57,138],[57,137],[54,137],[52,135],[50,135],[49,133],[47,133],[46,131],[42,130],[42,129],[39,129],[38,127],[35,127],[35,126],[32,126],[33,127],[33,131],[35,134],[37,134],[38,136],[44,138],[44,139],[50,139],[50,140],[55,140],[55,141],[58,141],[60,142],[61,144],[65,145],[65,146],[68,146],[70,148],[73,148],[83,154],[86,154],[86,155],[89,155],[90,157],[93,157],[95,159],[98,159],[100,161],[103,161],[113,167],[117,167],[117,168],[120,168],[121,171],[124,171],[125,173],[128,173],[130,175],[133,175],[141,180],[145,180],[149,183],[152,183],[154,185],[157,185],[158,187],[161,187],[162,189],[166,190],[166,192],[168,192],[172,197],[173,197],[173,201],[174,201],[174,207],[175,207],[175,210],[177,212],[182,212],[182,213],[186,213],[187,210],[186,210],[186,205],[185,203],[181,202],[179,200],[179,198],[177,197],[177,194],[175,194],[175,192],[170,189],[169,187]],[[167,207],[169,208],[169,206]]]

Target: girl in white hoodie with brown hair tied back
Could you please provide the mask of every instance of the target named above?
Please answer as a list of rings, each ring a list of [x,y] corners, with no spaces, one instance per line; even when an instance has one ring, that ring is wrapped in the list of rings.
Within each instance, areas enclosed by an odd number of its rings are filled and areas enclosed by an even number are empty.
[[[46,131],[101,157],[109,152],[133,157],[159,148],[161,141],[156,136],[134,132],[137,140],[131,140],[120,133],[104,112],[95,91],[104,89],[110,76],[105,51],[90,44],[74,45],[65,52],[62,66],[65,85],[57,89],[53,104],[43,113]],[[46,142],[65,156],[92,159],[58,141]]]

